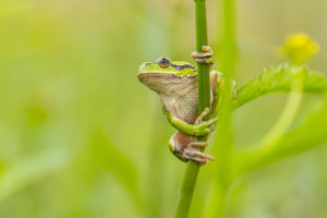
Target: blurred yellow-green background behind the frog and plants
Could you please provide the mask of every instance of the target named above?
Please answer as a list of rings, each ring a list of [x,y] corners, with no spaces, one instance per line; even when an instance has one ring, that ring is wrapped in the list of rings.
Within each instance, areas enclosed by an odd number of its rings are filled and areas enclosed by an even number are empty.
[[[219,59],[220,1],[207,4]],[[185,165],[168,152],[173,129],[136,72],[161,55],[191,61],[193,10],[192,0],[0,0],[0,217],[173,216]],[[237,83],[281,62],[278,48],[296,32],[319,43],[311,65],[326,71],[326,10],[325,0],[238,1]],[[235,111],[237,146],[262,138],[286,99]],[[243,178],[227,217],[325,218],[326,156],[318,147]]]

